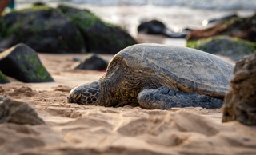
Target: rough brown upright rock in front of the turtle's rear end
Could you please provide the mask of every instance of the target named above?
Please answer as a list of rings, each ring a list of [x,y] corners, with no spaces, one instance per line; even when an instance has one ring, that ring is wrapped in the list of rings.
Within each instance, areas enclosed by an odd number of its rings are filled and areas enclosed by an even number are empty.
[[[256,125],[256,54],[243,58],[234,67],[234,78],[224,100],[222,121]]]

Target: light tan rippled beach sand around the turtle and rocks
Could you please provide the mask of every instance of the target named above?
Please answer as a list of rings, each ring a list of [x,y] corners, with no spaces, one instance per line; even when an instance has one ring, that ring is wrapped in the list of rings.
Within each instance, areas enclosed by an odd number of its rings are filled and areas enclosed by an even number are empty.
[[[256,127],[222,123],[222,109],[148,110],[66,102],[104,72],[70,70],[82,54],[39,54],[55,82],[9,78],[0,96],[24,101],[46,125],[0,124],[0,154],[256,154]],[[112,55],[102,55],[110,60]]]

